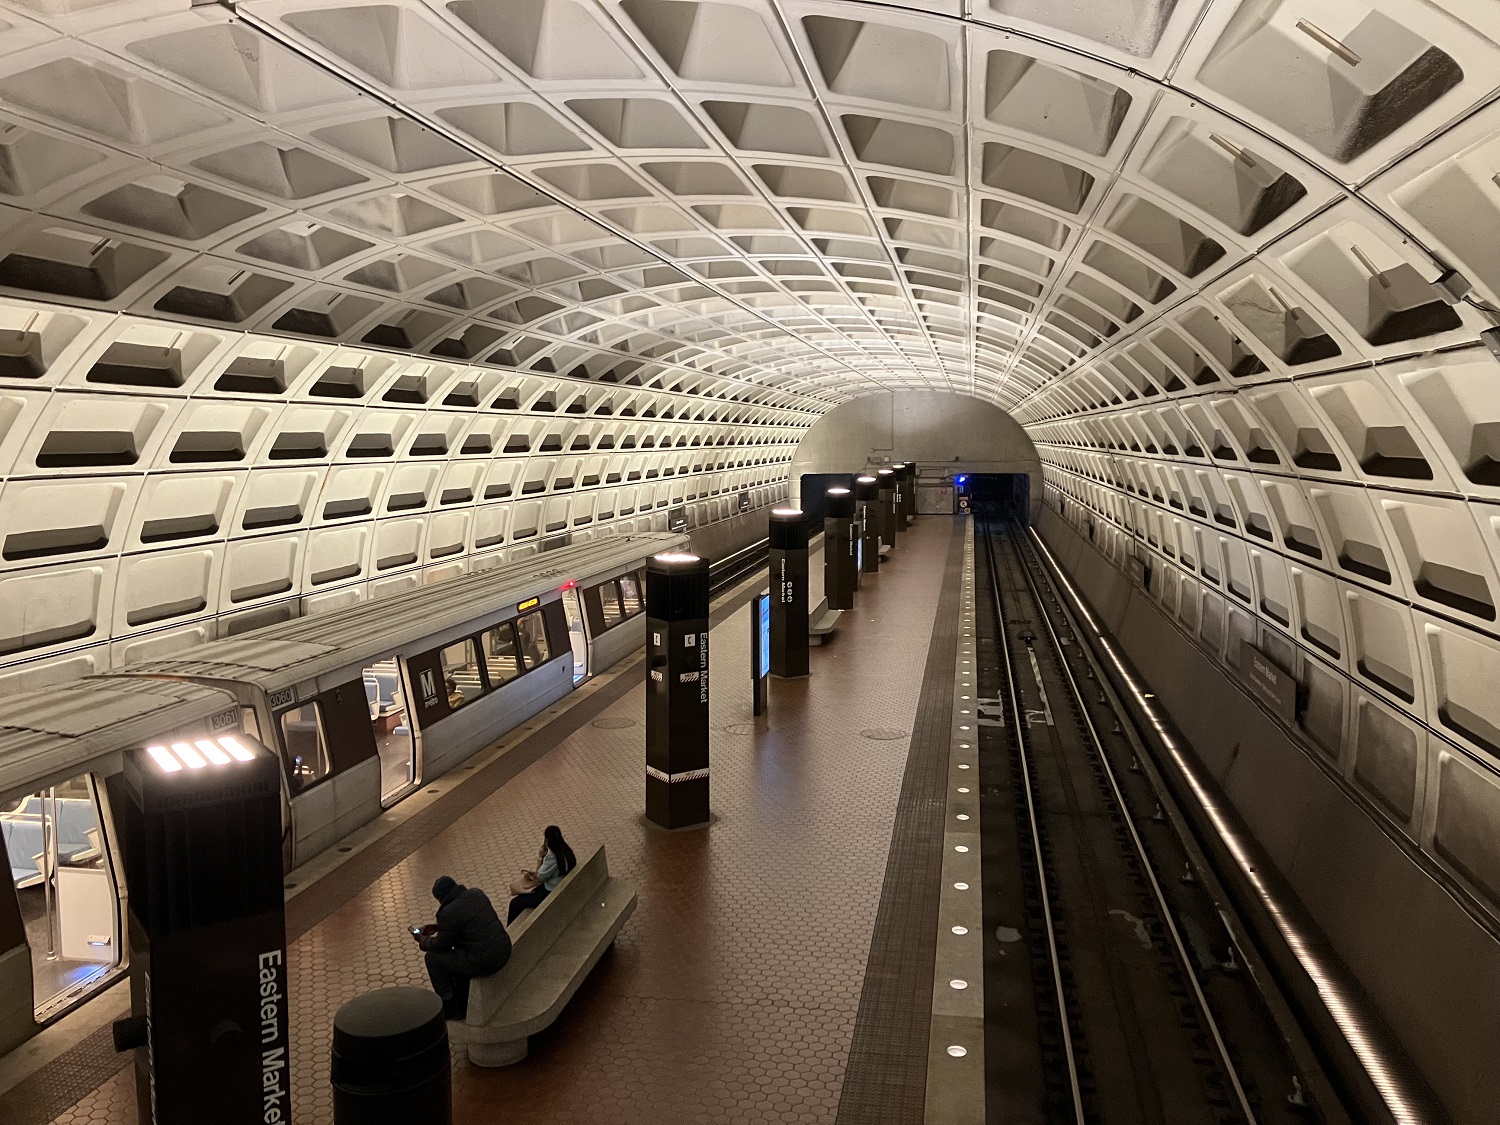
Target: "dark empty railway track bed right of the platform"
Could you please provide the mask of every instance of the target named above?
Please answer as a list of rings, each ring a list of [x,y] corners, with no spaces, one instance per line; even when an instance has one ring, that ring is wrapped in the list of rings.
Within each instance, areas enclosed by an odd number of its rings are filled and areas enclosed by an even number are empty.
[[[1024,531],[978,531],[988,1119],[1347,1120],[1300,1094]]]

